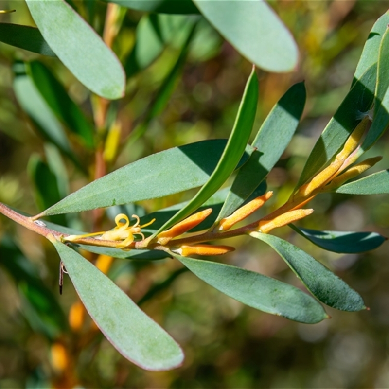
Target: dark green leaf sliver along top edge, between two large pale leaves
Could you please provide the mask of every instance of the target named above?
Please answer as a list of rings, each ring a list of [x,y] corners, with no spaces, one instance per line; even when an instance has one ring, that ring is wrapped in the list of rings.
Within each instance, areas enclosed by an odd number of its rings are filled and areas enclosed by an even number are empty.
[[[198,14],[191,0],[103,0],[122,7],[160,14]]]

